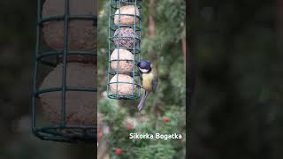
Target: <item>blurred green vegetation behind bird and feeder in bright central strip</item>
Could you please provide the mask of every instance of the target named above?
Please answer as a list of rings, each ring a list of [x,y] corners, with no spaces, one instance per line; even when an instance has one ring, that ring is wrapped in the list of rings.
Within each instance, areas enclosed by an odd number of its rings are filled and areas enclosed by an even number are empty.
[[[110,133],[103,137],[108,142],[111,158],[184,158],[185,153],[185,99],[186,71],[181,40],[186,34],[186,3],[184,0],[156,0],[156,35],[149,37],[149,0],[142,1],[142,59],[157,63],[159,82],[156,94],[149,95],[142,110],[139,100],[109,100],[105,96],[108,69],[108,14],[109,2],[100,1],[98,20],[98,79],[99,107]],[[170,121],[164,124],[163,118]],[[138,120],[134,133],[182,133],[183,140],[129,140],[126,121]],[[140,121],[146,118],[146,121]],[[131,123],[130,123],[131,124]],[[121,148],[122,155],[115,154]]]

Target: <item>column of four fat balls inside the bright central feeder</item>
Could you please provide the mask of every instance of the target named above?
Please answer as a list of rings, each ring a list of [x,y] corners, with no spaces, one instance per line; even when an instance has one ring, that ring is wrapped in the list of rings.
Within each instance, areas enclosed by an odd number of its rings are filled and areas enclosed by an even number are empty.
[[[110,80],[110,89],[119,98],[134,95],[134,49],[140,42],[134,28],[139,26],[139,22],[140,11],[132,4],[122,5],[115,12],[111,70],[116,74]]]

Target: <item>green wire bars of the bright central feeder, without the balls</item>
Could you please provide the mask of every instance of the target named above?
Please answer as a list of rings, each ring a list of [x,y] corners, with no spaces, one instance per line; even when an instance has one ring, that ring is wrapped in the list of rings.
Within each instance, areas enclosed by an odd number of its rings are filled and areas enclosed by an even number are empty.
[[[134,6],[134,14],[126,14],[126,13],[120,13],[120,8],[126,5],[133,5]],[[139,12],[139,15],[137,15],[137,11]],[[118,11],[118,14],[115,13],[115,11]],[[119,23],[116,25],[114,23],[115,16],[119,17]],[[120,24],[121,16],[132,16],[134,17],[134,25],[123,25]],[[114,32],[117,31],[120,28],[132,28],[134,29],[134,37],[132,36],[114,36]],[[134,40],[134,47],[124,47],[120,46],[119,42],[118,45],[114,44],[114,41],[116,40],[123,40],[123,39],[133,39]],[[139,63],[141,61],[141,42],[142,42],[142,0],[109,0],[109,24],[108,24],[108,76],[107,76],[107,96],[110,99],[118,99],[118,100],[133,100],[140,98],[141,95],[141,77],[138,72],[137,67],[135,67],[135,64]],[[114,51],[114,49],[118,50],[118,57],[117,59],[111,60],[111,53]],[[120,59],[120,49],[126,49],[130,51],[134,55],[133,60],[129,59]],[[117,69],[113,70],[111,69],[111,62],[116,61],[117,62]],[[133,71],[121,71],[119,70],[119,62],[120,61],[126,61],[126,62],[132,62],[133,63]],[[120,74],[127,74],[130,75],[133,78],[132,82],[126,82],[126,81],[119,81],[119,75]],[[117,75],[117,79],[114,82],[111,82],[110,79]],[[119,84],[130,84],[132,85],[132,94],[119,94]],[[110,86],[116,85],[116,91],[111,91]],[[124,85],[125,86],[125,85]],[[120,86],[123,87],[123,86]]]

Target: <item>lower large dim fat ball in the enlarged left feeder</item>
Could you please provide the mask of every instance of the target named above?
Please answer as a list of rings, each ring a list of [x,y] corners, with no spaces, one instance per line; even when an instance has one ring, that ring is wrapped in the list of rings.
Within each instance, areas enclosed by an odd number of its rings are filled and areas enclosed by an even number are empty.
[[[40,90],[62,86],[63,64],[48,74]],[[66,86],[76,88],[96,88],[96,66],[94,64],[66,64]],[[42,111],[50,123],[61,122],[62,91],[40,95]],[[67,125],[96,125],[96,92],[66,91],[65,121]]]

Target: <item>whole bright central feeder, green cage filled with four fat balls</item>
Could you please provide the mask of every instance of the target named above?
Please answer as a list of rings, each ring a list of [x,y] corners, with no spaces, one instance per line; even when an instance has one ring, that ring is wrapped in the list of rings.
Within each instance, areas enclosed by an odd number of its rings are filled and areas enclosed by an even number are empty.
[[[137,99],[141,77],[142,0],[110,0],[107,95],[111,99]]]

